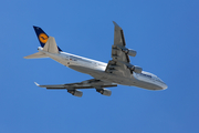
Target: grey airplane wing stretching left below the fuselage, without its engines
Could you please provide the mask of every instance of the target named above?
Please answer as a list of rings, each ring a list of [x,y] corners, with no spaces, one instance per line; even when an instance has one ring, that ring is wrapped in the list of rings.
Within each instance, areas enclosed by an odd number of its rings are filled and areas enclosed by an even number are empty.
[[[35,82],[34,82],[35,83]],[[117,86],[117,84],[103,82],[101,80],[92,79],[77,83],[69,83],[69,84],[56,84],[56,85],[40,85],[35,83],[40,88],[46,89],[66,89],[66,90],[75,90],[75,89],[93,89],[93,88],[111,88]]]

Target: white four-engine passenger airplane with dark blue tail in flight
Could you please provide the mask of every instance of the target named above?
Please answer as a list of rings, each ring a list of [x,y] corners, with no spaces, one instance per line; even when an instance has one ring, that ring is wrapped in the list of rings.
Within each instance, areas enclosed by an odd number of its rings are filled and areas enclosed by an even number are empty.
[[[24,59],[51,58],[56,62],[75,71],[90,74],[94,79],[66,84],[40,85],[49,90],[67,90],[74,96],[81,98],[80,89],[96,89],[96,92],[109,96],[112,91],[105,88],[117,86],[117,84],[138,86],[146,90],[165,90],[167,84],[157,75],[143,71],[140,66],[130,63],[129,57],[136,57],[136,51],[126,48],[123,29],[114,22],[114,44],[112,45],[112,60],[108,63],[83,58],[63,52],[53,37],[49,37],[41,28],[33,25],[41,47],[36,53],[24,57]]]

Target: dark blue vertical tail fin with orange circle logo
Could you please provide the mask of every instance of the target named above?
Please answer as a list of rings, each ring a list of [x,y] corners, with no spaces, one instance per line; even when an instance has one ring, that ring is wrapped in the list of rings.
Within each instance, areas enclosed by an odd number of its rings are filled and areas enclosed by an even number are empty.
[[[49,40],[49,35],[41,28],[35,27],[35,25],[33,25],[33,28],[34,28],[34,31],[39,39],[39,42],[40,42],[41,47],[43,48]],[[59,47],[57,47],[57,49],[59,49],[59,51],[62,51]]]

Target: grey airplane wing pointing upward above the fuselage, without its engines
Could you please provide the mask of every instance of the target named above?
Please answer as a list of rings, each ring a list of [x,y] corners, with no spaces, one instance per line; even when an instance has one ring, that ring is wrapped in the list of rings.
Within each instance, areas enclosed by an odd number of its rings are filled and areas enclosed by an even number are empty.
[[[130,76],[133,71],[130,71],[127,65],[130,65],[129,57],[125,52],[126,42],[123,33],[123,29],[113,22],[114,28],[114,44],[112,45],[112,60],[108,62],[105,72],[114,73],[117,75]]]

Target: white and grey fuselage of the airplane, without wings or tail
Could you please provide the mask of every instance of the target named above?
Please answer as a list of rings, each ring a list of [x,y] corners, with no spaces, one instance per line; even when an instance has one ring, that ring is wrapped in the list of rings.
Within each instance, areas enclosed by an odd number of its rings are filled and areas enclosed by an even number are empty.
[[[155,74],[143,71],[142,73],[133,73],[130,78],[114,75],[105,72],[107,63],[91,60],[87,58],[74,55],[66,52],[49,53],[43,51],[43,48],[39,48],[40,52],[45,53],[51,59],[60,62],[61,64],[71,68],[75,71],[86,73],[95,79],[129,85],[138,86],[147,90],[165,90],[167,85]]]

